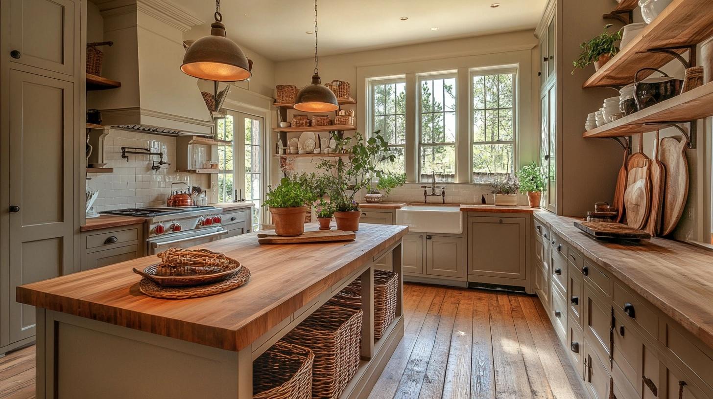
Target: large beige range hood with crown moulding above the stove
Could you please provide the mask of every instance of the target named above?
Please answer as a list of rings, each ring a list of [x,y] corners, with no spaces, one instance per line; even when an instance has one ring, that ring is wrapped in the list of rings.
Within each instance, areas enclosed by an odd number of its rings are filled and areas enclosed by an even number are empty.
[[[212,116],[198,81],[180,71],[183,33],[203,24],[200,19],[165,0],[98,0],[88,14],[90,21],[92,14],[101,15],[101,40],[114,43],[102,48],[101,74],[121,82],[120,88],[88,91],[87,108],[100,110],[103,125],[160,135],[212,135]]]

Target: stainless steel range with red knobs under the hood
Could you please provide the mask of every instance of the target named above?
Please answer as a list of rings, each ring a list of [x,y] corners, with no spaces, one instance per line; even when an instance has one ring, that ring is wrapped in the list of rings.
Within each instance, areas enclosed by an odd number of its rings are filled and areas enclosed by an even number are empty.
[[[147,207],[101,213],[145,217],[146,253],[152,255],[171,247],[215,241],[228,232],[222,227],[222,209],[217,207]]]

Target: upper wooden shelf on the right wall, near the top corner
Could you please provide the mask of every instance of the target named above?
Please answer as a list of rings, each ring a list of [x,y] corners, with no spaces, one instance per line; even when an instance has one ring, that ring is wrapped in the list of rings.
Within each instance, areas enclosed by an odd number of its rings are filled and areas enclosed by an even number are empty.
[[[673,0],[639,36],[595,72],[583,87],[632,83],[639,69],[660,68],[673,59],[667,54],[651,53],[649,50],[695,45],[710,36],[713,36],[713,7],[710,0]],[[642,73],[641,77],[649,74]]]

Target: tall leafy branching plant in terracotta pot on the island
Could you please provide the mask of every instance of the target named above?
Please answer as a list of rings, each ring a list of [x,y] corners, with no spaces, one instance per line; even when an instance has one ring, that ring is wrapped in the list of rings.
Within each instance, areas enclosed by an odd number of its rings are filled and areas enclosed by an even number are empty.
[[[356,232],[361,217],[356,193],[369,187],[371,177],[383,177],[384,172],[379,169],[381,163],[393,162],[395,156],[389,152],[379,131],[368,140],[359,133],[354,137],[333,135],[332,138],[337,143],[334,152],[344,152],[347,156],[319,162],[317,169],[324,171],[319,177],[320,191],[329,195],[329,202],[334,204],[337,229]]]

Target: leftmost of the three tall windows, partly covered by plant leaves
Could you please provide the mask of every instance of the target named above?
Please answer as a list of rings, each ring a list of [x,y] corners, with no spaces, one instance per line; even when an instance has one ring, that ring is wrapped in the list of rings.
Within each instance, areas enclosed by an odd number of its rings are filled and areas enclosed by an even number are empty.
[[[371,83],[371,132],[381,130],[396,160],[385,165],[386,172],[406,170],[406,83],[377,81]]]

